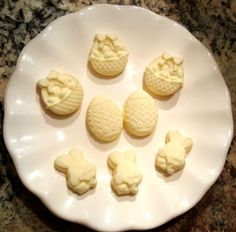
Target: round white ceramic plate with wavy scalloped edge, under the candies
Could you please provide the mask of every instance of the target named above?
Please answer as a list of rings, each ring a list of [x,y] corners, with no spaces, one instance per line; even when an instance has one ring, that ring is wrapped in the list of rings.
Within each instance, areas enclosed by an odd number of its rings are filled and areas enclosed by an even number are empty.
[[[87,58],[96,32],[115,32],[129,48],[125,72],[111,80],[94,77]],[[142,89],[144,68],[163,51],[183,57],[183,89],[157,100],[159,122],[153,135],[133,139],[125,132],[109,144],[95,142],[85,114],[95,95],[122,106]],[[84,88],[81,110],[66,119],[50,117],[36,94],[36,82],[51,69],[76,76]],[[194,141],[183,171],[166,178],[154,168],[169,129]],[[228,89],[209,51],[184,27],[139,7],[94,5],[51,23],[22,51],[5,95],[4,139],[25,186],[56,215],[98,230],[148,229],[193,207],[219,176],[232,138]],[[54,170],[57,155],[81,148],[97,166],[95,190],[78,196]],[[143,172],[135,197],[116,197],[106,159],[113,150],[133,149]]]

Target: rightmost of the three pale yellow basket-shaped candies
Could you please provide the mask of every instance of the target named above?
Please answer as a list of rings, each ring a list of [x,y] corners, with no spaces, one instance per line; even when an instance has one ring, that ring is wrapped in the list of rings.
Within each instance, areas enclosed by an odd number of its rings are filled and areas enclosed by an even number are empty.
[[[154,94],[170,96],[183,85],[183,60],[167,53],[155,59],[145,69],[144,83]]]

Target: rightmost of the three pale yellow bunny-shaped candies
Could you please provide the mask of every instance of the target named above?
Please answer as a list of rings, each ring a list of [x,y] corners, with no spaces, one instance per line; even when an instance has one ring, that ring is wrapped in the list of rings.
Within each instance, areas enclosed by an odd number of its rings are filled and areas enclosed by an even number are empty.
[[[172,175],[185,165],[186,153],[192,148],[192,139],[182,136],[178,131],[171,130],[166,135],[166,144],[156,157],[156,167]]]

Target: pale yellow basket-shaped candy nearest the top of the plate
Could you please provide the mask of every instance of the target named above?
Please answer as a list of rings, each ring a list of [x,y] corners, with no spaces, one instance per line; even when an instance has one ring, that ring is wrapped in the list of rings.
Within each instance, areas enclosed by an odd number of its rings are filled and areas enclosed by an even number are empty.
[[[116,35],[96,34],[89,61],[98,74],[116,76],[125,69],[128,62],[128,51]]]

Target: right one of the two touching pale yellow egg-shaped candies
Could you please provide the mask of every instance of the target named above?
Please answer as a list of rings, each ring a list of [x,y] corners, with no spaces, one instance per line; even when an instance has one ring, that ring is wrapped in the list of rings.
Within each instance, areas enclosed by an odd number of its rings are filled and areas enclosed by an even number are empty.
[[[153,132],[158,120],[154,99],[145,91],[133,92],[123,107],[124,124],[130,134],[147,136]]]

